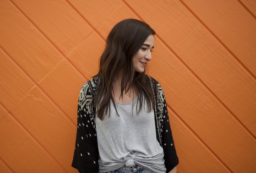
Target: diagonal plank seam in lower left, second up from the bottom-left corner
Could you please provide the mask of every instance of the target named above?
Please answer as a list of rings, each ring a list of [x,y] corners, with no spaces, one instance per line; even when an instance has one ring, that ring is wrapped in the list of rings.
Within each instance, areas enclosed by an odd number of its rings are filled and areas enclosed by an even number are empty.
[[[22,130],[24,130],[27,135],[33,139],[33,141],[35,141],[35,143],[66,173],[68,173],[68,171],[58,162],[58,160],[56,160],[46,149],[45,147],[33,136],[33,134],[31,134],[28,129],[23,126],[23,124],[21,122],[19,122],[19,120],[17,118],[15,118],[15,116],[8,111],[8,109],[0,102],[0,105],[3,107],[3,109],[8,112],[8,115],[22,128]]]

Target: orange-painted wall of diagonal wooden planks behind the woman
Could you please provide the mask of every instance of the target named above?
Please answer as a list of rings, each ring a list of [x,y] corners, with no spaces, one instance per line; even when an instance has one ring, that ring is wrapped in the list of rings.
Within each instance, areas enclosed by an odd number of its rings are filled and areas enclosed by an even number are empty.
[[[157,33],[148,74],[178,173],[255,172],[255,15],[254,0],[1,0],[0,172],[77,172],[79,90],[126,18]]]

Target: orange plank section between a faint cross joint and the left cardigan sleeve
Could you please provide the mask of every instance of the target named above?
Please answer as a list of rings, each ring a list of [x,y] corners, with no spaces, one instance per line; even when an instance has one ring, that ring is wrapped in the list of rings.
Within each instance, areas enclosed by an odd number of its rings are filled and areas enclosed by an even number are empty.
[[[39,85],[49,94],[49,96],[63,111],[70,116],[74,127],[76,127],[77,117],[73,110],[77,109],[79,88],[85,83],[84,79],[74,70],[67,61],[63,60]],[[60,94],[61,91],[61,94]]]

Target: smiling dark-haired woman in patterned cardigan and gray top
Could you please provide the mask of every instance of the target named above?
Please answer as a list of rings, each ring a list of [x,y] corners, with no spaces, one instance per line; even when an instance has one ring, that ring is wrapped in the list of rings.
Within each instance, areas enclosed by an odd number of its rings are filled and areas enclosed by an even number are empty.
[[[154,34],[136,19],[109,33],[98,75],[80,90],[72,162],[79,172],[176,172],[164,93],[145,75]]]

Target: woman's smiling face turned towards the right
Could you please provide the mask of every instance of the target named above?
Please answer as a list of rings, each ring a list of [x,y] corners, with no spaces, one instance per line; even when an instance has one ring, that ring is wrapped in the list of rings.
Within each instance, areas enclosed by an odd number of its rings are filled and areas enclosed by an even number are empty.
[[[154,48],[154,35],[151,34],[145,40],[140,50],[132,58],[133,66],[136,72],[142,73],[151,60],[151,52]]]

